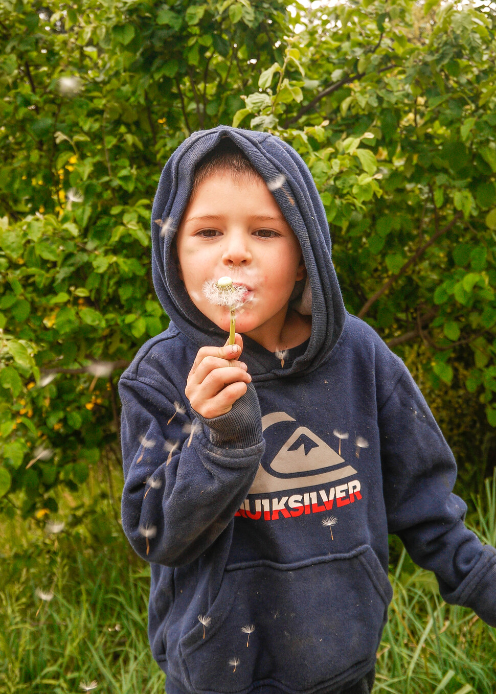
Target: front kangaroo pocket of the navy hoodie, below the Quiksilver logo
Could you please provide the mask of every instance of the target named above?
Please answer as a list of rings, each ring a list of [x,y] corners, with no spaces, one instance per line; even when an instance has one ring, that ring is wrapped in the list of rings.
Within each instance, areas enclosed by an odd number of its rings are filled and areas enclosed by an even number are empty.
[[[201,692],[263,682],[295,692],[337,686],[350,670],[373,666],[391,598],[368,545],[297,564],[231,566],[205,638],[195,629],[181,640],[183,666]]]

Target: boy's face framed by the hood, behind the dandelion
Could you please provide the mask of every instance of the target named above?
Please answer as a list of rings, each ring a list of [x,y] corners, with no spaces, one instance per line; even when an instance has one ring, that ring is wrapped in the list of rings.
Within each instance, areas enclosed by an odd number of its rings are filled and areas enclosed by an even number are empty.
[[[262,180],[233,178],[229,171],[206,178],[183,214],[176,250],[179,276],[204,315],[229,330],[229,307],[202,294],[206,280],[228,275],[249,289],[236,311],[236,332],[261,344],[267,343],[261,337],[277,341],[306,269],[298,239]]]

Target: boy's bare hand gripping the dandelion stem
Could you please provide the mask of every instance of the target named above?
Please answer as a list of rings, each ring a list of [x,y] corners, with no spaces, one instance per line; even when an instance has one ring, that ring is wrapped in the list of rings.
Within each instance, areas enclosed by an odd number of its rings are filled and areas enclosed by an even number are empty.
[[[238,351],[234,351],[237,348]],[[248,367],[238,362],[243,348],[236,332],[235,345],[201,347],[188,374],[184,389],[193,409],[208,419],[226,414],[238,398],[245,395],[251,376]]]

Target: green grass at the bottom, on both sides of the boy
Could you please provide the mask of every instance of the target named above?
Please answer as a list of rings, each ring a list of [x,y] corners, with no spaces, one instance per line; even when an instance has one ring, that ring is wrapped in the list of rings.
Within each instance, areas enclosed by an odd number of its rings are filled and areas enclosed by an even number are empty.
[[[119,491],[121,477],[114,472]],[[147,639],[149,565],[131,549],[105,488],[102,475],[74,496],[61,493],[66,527],[57,535],[44,532],[44,520],[2,521],[2,694],[81,694],[80,683],[92,680],[97,693],[164,691]],[[468,525],[494,543],[496,475],[473,501]],[[416,567],[396,538],[391,557],[394,598],[374,694],[494,694],[496,629],[445,604],[434,575]],[[37,589],[53,599],[40,600]]]

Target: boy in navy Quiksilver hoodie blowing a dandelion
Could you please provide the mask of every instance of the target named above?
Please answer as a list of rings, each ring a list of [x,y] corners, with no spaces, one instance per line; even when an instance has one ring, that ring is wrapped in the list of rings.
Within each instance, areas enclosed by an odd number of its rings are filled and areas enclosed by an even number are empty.
[[[463,523],[404,363],[345,310],[299,155],[267,133],[194,133],[152,220],[171,323],[119,382],[122,527],[151,564],[167,694],[368,694],[388,532],[446,602],[496,625],[496,550]],[[229,307],[204,294],[222,276],[242,287],[234,346]]]

